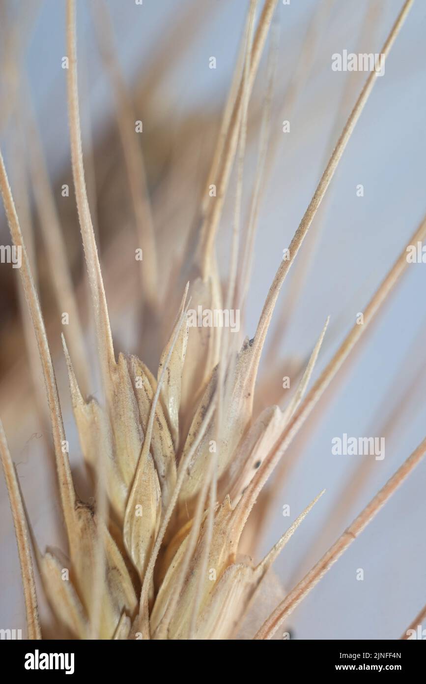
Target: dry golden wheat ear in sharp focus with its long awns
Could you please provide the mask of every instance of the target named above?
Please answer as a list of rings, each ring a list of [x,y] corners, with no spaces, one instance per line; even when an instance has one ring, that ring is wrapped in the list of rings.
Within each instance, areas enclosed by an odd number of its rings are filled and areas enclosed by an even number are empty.
[[[25,506],[0,423],[0,451],[22,570],[28,637],[40,639],[42,629],[35,597],[31,561],[33,544],[38,573],[57,624],[79,639],[228,640],[236,637],[251,614],[257,596],[270,578],[270,568],[304,518],[324,495],[322,490],[276,541],[261,562],[241,553],[242,535],[249,516],[264,515],[255,503],[264,491],[276,464],[326,391],[332,378],[378,315],[390,291],[406,271],[406,249],[384,278],[364,311],[364,325],[354,325],[313,383],[309,383],[327,334],[328,321],[319,332],[306,367],[300,369],[296,391],[285,408],[254,408],[259,363],[279,292],[326,195],[356,122],[373,90],[373,71],[350,113],[307,211],[272,280],[253,339],[240,343],[229,328],[190,326],[189,308],[225,311],[243,306],[247,296],[253,235],[259,196],[266,168],[270,125],[270,100],[274,80],[274,43],[270,50],[265,112],[259,141],[257,176],[241,247],[242,188],[248,131],[248,108],[257,70],[264,52],[277,0],[264,0],[256,24],[257,0],[251,0],[238,65],[229,90],[206,187],[214,179],[215,202],[207,192],[198,209],[197,230],[190,234],[180,272],[165,295],[160,292],[160,259],[152,207],[147,189],[145,162],[130,137],[127,121],[135,119],[126,85],[109,51],[108,21],[98,26],[101,51],[111,75],[117,120],[130,179],[135,234],[143,244],[141,302],[143,326],[158,326],[161,307],[175,310],[166,322],[166,341],[158,349],[158,369],[131,354],[116,353],[104,290],[98,246],[87,197],[76,51],[74,0],[67,0],[66,38],[70,153],[76,205],[87,266],[87,278],[96,331],[102,377],[102,399],[88,397],[89,364],[84,351],[82,324],[72,292],[66,250],[52,201],[42,150],[34,132],[31,168],[38,213],[44,224],[48,261],[55,274],[60,260],[61,277],[53,277],[55,298],[63,311],[74,312],[76,327],[62,336],[72,410],[79,433],[87,477],[96,492],[95,502],[85,503],[77,494],[68,459],[61,400],[57,390],[51,350],[42,316],[35,278],[25,248],[3,157],[0,156],[0,188],[12,241],[22,248],[20,269],[23,289],[42,362],[49,419],[53,433],[57,487],[66,528],[68,549],[40,551]],[[328,3],[331,5],[332,3]],[[98,5],[98,3],[97,3]],[[382,48],[387,57],[411,8],[406,0]],[[330,8],[327,9],[329,11]],[[98,15],[105,18],[104,9]],[[96,15],[95,15],[96,21]],[[96,21],[97,23],[97,21]],[[308,60],[309,61],[309,60]],[[296,84],[297,85],[297,84]],[[294,88],[294,83],[292,85]],[[289,98],[295,94],[290,90]],[[216,235],[223,215],[231,171],[236,166],[236,200],[233,210],[232,248],[225,286],[218,276]],[[40,175],[37,168],[40,167]],[[46,229],[51,225],[52,233]],[[49,235],[53,235],[49,242]],[[426,237],[426,219],[408,241]],[[240,255],[242,252],[242,258]],[[69,348],[68,348],[69,347]],[[252,636],[270,639],[292,610],[304,599],[328,568],[371,521],[382,505],[423,458],[426,442],[395,472],[354,523],[312,570],[266,619],[257,621]],[[322,489],[318,487],[318,490]],[[265,502],[264,502],[265,503]],[[262,504],[263,505],[263,504]],[[63,570],[68,571],[63,581]],[[423,619],[424,611],[417,618]]]

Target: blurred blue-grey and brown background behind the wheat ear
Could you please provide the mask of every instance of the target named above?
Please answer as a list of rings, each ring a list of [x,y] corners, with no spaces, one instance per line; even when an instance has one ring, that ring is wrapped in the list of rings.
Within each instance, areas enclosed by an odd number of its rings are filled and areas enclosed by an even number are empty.
[[[166,287],[175,244],[193,224],[221,111],[238,57],[246,0],[109,0],[77,3],[79,93],[83,150],[115,349],[140,353],[134,324],[136,270],[124,258],[132,244],[128,187],[111,79],[100,56],[111,17],[118,65],[143,121],[141,146],[152,198]],[[270,142],[261,195],[245,332],[253,337],[272,278],[311,200],[341,128],[367,78],[335,72],[332,54],[380,53],[401,0],[299,0],[277,3],[272,46],[262,58],[249,107],[243,221],[255,182],[261,117],[266,106],[268,51],[276,60]],[[93,350],[91,311],[76,217],[68,137],[65,3],[3,0],[0,5],[0,144],[21,222],[33,236],[31,259],[63,401],[70,456],[81,468],[60,345],[61,321],[51,294],[40,220],[33,197],[29,138],[40,132],[66,241],[79,310]],[[285,282],[264,354],[257,408],[285,401],[283,376],[310,354],[330,315],[315,377],[363,311],[426,211],[426,5],[414,7],[386,59],[345,150],[322,211]],[[210,57],[216,68],[209,68]],[[283,120],[290,131],[283,133]],[[70,196],[61,195],[68,184]],[[363,185],[363,196],[358,196]],[[218,241],[223,276],[229,263],[235,182],[231,181]],[[10,244],[3,209],[0,241]],[[173,233],[171,244],[168,236]],[[130,236],[130,237],[129,237]],[[18,271],[1,264],[0,416],[18,465],[40,547],[61,543],[57,505],[46,465],[50,435],[42,423],[38,386],[19,313]],[[413,264],[363,343],[352,354],[300,436],[284,456],[271,515],[257,540],[266,553],[322,488],[298,534],[276,562],[291,589],[425,436],[426,265]],[[268,341],[267,341],[268,347]],[[153,362],[154,363],[154,362]],[[96,375],[90,393],[96,395]],[[33,389],[35,387],[35,390]],[[37,391],[37,388],[39,391]],[[332,456],[331,440],[385,436],[386,456]],[[298,639],[397,639],[425,604],[426,464],[296,609],[289,627]],[[283,505],[290,506],[290,518]],[[3,478],[0,482],[0,627],[25,624],[18,555]],[[363,581],[356,579],[359,568]]]

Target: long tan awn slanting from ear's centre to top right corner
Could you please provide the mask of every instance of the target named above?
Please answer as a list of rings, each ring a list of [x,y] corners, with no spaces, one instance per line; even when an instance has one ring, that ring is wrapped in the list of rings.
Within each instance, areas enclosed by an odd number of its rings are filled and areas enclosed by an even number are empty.
[[[399,34],[399,31],[408,15],[408,12],[410,11],[413,2],[414,0],[406,0],[406,2],[404,3],[398,18],[395,21],[395,24],[390,30],[388,38],[386,38],[386,41],[384,42],[384,46],[382,47],[381,51],[382,56],[380,57],[380,60],[386,59],[386,57],[388,56],[388,53],[391,47],[393,46],[393,43],[395,42],[395,38],[397,38],[397,35]],[[289,259],[283,259],[279,265],[272,285],[270,286],[270,290],[268,292],[268,296],[266,298],[263,311],[261,312],[259,324],[257,326],[255,334],[255,345],[257,345],[259,350],[261,350],[261,348],[264,345],[266,332],[268,331],[268,326],[270,324],[272,312],[274,311],[274,306],[276,304],[276,300],[281,290],[281,286],[283,285],[285,277],[287,276],[287,273],[289,272],[289,269],[292,266],[294,259],[296,259],[296,254],[302,246],[304,237],[307,235],[307,232],[309,231],[309,226],[311,226],[313,218],[315,217],[315,213],[317,212],[317,209],[321,204],[324,195],[326,194],[328,185],[330,184],[332,176],[335,174],[335,170],[341,159],[341,156],[343,155],[343,151],[345,150],[347,142],[350,140],[352,131],[355,128],[356,122],[360,118],[360,114],[363,111],[365,104],[367,103],[369,94],[373,90],[377,77],[378,71],[373,70],[369,75],[363,90],[361,90],[358,100],[356,101],[354,108],[352,109],[352,112],[349,118],[347,119],[345,127],[343,128],[341,136],[339,137],[339,141],[337,142],[337,145],[333,150],[333,153],[330,157],[330,161],[328,161],[326,169],[322,174],[321,180],[319,181],[313,198],[311,199],[311,202],[309,202],[309,206],[305,211],[304,216],[298,226],[298,229],[296,230],[296,233],[294,234],[294,237],[290,243]]]

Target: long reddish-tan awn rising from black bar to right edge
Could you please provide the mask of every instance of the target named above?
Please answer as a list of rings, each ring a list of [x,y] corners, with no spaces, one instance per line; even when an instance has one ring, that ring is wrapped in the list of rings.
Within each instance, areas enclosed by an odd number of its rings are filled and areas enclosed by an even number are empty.
[[[335,544],[328,549],[321,560],[309,571],[307,575],[296,585],[296,587],[285,597],[273,611],[269,618],[262,624],[261,628],[255,635],[255,640],[270,639],[276,629],[283,623],[283,621],[294,611],[296,606],[304,599],[307,594],[315,587],[322,577],[324,577],[327,570],[339,559],[347,547],[352,544],[356,537],[367,527],[369,522],[384,506],[386,501],[390,499],[393,493],[401,486],[404,480],[414,470],[416,465],[421,461],[426,453],[426,438],[413,451],[411,456],[403,462],[396,473],[388,479],[388,482],[382,489],[371,499],[370,503],[365,509],[355,518],[350,527],[343,532],[342,536],[335,542]]]

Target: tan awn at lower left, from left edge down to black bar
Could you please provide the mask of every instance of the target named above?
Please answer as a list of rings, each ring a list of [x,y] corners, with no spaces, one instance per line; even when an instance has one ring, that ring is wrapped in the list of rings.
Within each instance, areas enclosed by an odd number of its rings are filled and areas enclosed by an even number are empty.
[[[29,549],[29,534],[25,521],[25,511],[22,497],[20,495],[18,477],[16,477],[16,471],[10,456],[8,443],[3,430],[3,423],[1,423],[1,421],[0,456],[1,464],[5,474],[6,485],[8,486],[10,508],[12,510],[15,527],[16,544],[18,545],[20,573],[22,575],[24,588],[25,612],[27,614],[28,638],[31,640],[41,639],[42,632],[40,630],[40,622],[38,619],[38,605],[37,596],[35,594],[33,562],[31,560],[31,551]]]

